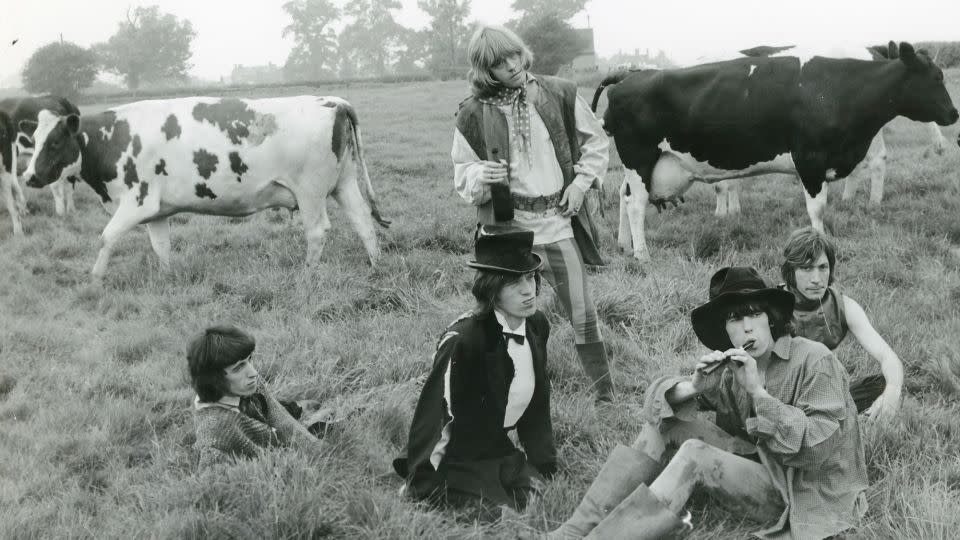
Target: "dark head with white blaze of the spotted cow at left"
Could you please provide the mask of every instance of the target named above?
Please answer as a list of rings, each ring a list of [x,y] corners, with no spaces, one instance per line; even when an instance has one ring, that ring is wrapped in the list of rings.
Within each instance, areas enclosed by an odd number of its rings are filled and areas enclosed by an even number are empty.
[[[29,128],[29,124],[21,122],[20,128]],[[28,186],[43,187],[80,172],[79,133],[79,115],[40,111],[33,131],[33,157],[23,173]]]

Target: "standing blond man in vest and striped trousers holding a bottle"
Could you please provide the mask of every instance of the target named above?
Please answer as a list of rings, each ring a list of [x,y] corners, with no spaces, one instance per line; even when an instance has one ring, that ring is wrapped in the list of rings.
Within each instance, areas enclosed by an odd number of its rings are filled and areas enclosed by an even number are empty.
[[[513,32],[481,26],[470,40],[471,97],[461,105],[451,157],[457,193],[481,225],[534,233],[534,252],[573,324],[577,356],[598,402],[613,401],[586,264],[602,265],[584,195],[603,181],[609,142],[573,82],[534,76]],[[584,209],[585,210],[585,209]]]

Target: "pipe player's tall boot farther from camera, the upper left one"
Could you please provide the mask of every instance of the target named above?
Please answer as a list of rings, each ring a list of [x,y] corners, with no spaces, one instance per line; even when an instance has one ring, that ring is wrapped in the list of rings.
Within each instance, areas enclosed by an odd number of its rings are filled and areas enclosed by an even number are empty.
[[[547,538],[551,540],[583,538],[637,486],[653,481],[659,469],[659,463],[650,456],[640,450],[618,444],[610,452],[610,457],[603,464],[597,478],[590,484],[590,488],[570,519],[550,532]]]

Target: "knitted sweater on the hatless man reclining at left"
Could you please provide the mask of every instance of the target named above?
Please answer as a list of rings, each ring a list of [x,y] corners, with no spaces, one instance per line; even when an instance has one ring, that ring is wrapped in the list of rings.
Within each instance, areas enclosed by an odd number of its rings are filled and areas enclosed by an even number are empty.
[[[257,457],[270,446],[319,445],[319,441],[290,416],[262,384],[257,393],[265,398],[267,423],[222,403],[206,403],[195,409],[197,441],[194,448],[200,454],[201,469],[231,457]]]

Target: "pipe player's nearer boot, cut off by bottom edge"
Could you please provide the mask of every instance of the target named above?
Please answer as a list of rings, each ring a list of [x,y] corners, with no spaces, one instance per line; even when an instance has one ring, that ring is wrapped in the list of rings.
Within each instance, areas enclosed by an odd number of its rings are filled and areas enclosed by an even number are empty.
[[[684,522],[645,484],[640,484],[587,540],[660,540],[683,527]]]

